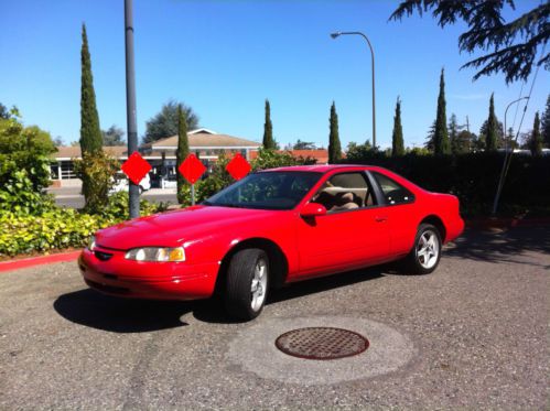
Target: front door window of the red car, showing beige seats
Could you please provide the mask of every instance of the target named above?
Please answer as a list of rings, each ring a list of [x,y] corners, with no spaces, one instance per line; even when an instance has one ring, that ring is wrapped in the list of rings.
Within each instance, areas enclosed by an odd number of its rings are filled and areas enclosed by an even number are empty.
[[[342,173],[327,180],[312,197],[328,213],[364,208],[375,205],[373,191],[363,173]]]

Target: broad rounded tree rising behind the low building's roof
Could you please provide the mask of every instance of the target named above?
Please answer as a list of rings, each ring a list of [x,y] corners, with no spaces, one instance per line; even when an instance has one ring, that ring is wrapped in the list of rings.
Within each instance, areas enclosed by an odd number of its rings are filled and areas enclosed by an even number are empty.
[[[149,121],[145,122],[145,134],[143,136],[144,143],[150,143],[177,134],[180,125],[180,106],[183,110],[183,115],[185,116],[187,130],[195,130],[198,128],[198,116],[190,106],[175,100],[169,100],[162,106],[161,110],[154,117],[150,118]]]

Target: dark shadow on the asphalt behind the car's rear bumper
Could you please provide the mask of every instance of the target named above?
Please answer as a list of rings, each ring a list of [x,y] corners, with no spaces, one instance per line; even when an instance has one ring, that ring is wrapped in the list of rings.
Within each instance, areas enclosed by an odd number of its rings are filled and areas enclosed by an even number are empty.
[[[487,262],[517,262],[550,269],[548,266],[517,258],[527,251],[543,253],[550,251],[550,226],[548,225],[514,227],[496,232],[470,229],[454,242],[455,247],[446,249],[445,256]]]

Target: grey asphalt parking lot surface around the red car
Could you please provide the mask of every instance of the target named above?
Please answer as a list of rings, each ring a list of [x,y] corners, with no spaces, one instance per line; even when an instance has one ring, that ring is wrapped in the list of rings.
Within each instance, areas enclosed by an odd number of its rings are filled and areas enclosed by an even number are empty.
[[[390,267],[271,294],[230,323],[211,302],[125,301],[76,263],[0,274],[0,409],[548,409],[550,228],[466,232],[422,277]],[[277,353],[293,327],[360,331],[357,357]]]

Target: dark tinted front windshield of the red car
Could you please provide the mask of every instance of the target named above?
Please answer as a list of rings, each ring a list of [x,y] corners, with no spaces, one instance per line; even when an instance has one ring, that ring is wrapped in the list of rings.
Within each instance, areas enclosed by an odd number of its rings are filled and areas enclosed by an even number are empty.
[[[315,185],[321,173],[276,171],[250,174],[213,195],[204,205],[260,209],[292,209]]]

